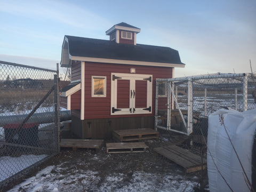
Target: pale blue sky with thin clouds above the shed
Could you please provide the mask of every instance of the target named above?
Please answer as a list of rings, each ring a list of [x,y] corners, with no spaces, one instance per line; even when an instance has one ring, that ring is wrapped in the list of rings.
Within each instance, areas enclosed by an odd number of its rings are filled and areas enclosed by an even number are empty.
[[[178,50],[175,77],[256,71],[256,1],[0,0],[0,60],[55,69],[64,35],[109,39],[126,22],[137,43]]]

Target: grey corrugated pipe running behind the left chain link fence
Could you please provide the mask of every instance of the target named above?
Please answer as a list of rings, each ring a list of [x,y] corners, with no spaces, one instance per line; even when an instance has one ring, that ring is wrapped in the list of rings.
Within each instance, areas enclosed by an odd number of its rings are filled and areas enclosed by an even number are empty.
[[[0,126],[4,126],[6,123],[21,123],[28,114],[26,115],[11,115],[11,116],[0,116]],[[70,110],[60,111],[60,122],[71,120]],[[34,113],[27,121],[37,122],[38,124],[52,123],[54,122],[54,111],[45,113]]]

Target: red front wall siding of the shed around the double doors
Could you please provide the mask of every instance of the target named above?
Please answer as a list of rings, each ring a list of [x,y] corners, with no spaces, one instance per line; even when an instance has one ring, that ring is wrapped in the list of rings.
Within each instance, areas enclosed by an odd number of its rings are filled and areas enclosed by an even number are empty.
[[[143,115],[110,115],[111,103],[111,73],[130,73],[130,68],[136,69],[136,74],[153,75],[153,97],[152,97],[152,114]],[[92,97],[92,76],[107,77],[107,94],[106,97]],[[85,119],[94,118],[119,118],[119,117],[138,117],[155,115],[155,87],[156,78],[172,78],[172,68],[167,67],[148,67],[134,65],[118,65],[107,63],[85,62]],[[142,96],[142,93],[138,93]],[[166,100],[166,99],[165,99]],[[165,105],[163,101],[163,105]],[[139,105],[139,104],[138,104]],[[162,105],[162,104],[161,104]]]

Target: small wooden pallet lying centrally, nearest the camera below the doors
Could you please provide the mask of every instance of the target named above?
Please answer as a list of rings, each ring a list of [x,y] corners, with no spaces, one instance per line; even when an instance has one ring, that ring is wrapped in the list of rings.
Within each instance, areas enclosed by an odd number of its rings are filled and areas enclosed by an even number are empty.
[[[145,142],[106,143],[107,153],[139,153],[145,152],[148,146]]]

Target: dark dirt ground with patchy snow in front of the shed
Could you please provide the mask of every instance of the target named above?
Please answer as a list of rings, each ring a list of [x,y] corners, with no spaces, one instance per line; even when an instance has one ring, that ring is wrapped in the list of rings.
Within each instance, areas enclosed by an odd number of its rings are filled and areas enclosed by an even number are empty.
[[[30,175],[10,191],[198,191],[200,172],[185,174],[182,167],[154,152],[155,147],[186,138],[159,132],[159,139],[143,140],[149,147],[143,153],[108,154],[105,146],[100,151],[61,148],[40,167],[51,167],[49,172]]]

